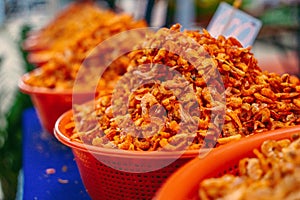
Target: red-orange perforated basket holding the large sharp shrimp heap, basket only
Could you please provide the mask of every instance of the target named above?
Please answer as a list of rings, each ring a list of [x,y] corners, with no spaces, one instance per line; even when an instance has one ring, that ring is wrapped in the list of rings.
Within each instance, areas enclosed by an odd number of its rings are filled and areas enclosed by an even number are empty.
[[[152,199],[173,172],[199,155],[198,150],[151,154],[87,146],[70,140],[66,135],[65,126],[71,116],[72,110],[57,120],[54,135],[72,149],[82,181],[92,199]],[[148,170],[165,163],[170,164]]]

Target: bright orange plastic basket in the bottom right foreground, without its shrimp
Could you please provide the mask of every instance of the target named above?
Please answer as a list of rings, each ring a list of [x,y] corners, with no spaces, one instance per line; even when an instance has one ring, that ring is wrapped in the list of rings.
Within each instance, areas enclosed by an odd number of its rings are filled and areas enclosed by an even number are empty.
[[[194,158],[170,176],[154,199],[199,199],[198,189],[202,180],[226,173],[237,174],[239,160],[253,157],[253,149],[259,148],[263,141],[290,138],[293,134],[300,134],[299,125],[252,135],[213,149],[204,158]]]

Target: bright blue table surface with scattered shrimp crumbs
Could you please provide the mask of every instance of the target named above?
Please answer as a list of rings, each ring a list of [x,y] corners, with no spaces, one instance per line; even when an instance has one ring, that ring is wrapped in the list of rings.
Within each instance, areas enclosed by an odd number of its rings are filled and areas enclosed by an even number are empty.
[[[71,149],[41,127],[34,108],[23,113],[22,182],[24,200],[90,200]]]

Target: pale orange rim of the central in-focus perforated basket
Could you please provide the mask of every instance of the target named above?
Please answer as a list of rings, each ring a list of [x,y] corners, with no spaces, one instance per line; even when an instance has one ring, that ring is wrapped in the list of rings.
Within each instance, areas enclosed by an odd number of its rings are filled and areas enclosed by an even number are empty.
[[[133,159],[166,159],[166,158],[194,158],[198,155],[206,154],[210,149],[200,150],[185,150],[185,151],[128,151],[120,149],[109,149],[103,147],[97,147],[93,145],[85,145],[80,142],[71,140],[63,132],[63,126],[67,121],[70,121],[70,117],[73,114],[73,110],[69,110],[63,113],[56,121],[54,127],[54,136],[64,145],[77,149],[80,151],[89,152],[95,155],[105,155],[110,157],[122,157]]]

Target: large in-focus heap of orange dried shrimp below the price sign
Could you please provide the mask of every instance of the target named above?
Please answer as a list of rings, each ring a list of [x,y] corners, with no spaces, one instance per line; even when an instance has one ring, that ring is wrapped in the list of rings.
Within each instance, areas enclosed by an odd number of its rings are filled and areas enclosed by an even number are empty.
[[[213,38],[206,30],[181,32],[175,24],[158,30],[136,49],[115,87],[117,98],[98,99],[95,110],[78,106],[75,121],[84,121],[86,127],[69,126],[72,139],[126,150],[199,149],[300,123],[298,78],[263,72],[251,48],[234,38]],[[196,58],[199,66],[179,54]],[[134,76],[155,81],[137,87],[141,80]],[[156,117],[161,113],[163,118]],[[98,123],[87,128],[89,120]],[[217,122],[222,120],[220,130]],[[190,124],[182,128],[186,121]]]

